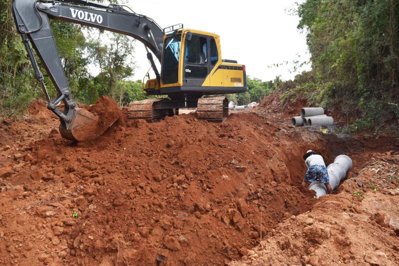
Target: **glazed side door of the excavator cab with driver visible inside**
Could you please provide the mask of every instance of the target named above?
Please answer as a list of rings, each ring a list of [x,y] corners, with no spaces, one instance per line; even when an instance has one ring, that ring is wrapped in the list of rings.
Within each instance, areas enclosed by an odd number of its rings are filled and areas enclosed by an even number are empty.
[[[201,86],[210,71],[208,36],[188,36],[183,53],[183,86]]]

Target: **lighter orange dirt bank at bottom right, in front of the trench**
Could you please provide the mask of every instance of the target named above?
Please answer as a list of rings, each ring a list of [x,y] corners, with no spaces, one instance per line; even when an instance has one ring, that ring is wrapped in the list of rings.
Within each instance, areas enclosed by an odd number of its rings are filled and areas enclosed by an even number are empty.
[[[285,220],[230,265],[398,265],[399,153],[375,156],[338,195]]]

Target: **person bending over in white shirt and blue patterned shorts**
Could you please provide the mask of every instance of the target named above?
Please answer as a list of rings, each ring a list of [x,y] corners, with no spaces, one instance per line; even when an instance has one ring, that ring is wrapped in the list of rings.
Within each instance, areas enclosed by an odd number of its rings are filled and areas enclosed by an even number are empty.
[[[330,194],[332,189],[330,186],[330,178],[323,157],[318,151],[307,151],[303,156],[305,165],[308,168],[302,186],[307,189],[311,183],[322,183],[326,186],[327,193]]]

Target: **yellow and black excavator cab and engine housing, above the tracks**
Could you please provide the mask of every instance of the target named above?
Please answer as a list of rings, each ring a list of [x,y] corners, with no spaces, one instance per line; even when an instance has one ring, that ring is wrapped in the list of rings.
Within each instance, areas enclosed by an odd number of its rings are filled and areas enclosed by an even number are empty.
[[[165,33],[160,79],[149,79],[144,90],[171,98],[244,92],[245,65],[222,59],[217,34],[179,28]]]

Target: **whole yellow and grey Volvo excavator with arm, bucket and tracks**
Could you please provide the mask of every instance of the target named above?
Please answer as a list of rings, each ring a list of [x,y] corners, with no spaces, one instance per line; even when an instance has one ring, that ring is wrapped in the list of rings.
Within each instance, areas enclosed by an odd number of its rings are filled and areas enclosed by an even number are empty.
[[[59,117],[60,133],[66,139],[83,140],[96,127],[99,117],[74,102],[48,18],[125,34],[144,43],[155,78],[150,79],[147,73],[143,90],[147,95],[168,98],[131,102],[126,107],[130,119],[156,121],[178,114],[179,108],[197,108],[199,119],[220,122],[228,115],[226,97],[204,96],[246,91],[245,65],[221,58],[220,38],[214,33],[187,29],[183,24],[161,28],[153,19],[125,5],[89,0],[13,0],[12,13],[47,98],[47,108]],[[57,90],[53,100],[31,46]],[[153,54],[161,62],[161,71]],[[57,108],[61,101],[63,111]]]

